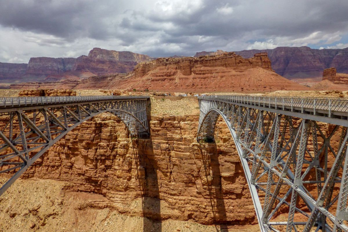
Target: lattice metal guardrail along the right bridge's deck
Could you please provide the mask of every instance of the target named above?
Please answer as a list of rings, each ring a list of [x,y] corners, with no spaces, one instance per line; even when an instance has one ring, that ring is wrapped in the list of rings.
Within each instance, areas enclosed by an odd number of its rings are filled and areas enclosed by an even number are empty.
[[[329,117],[332,112],[348,113],[348,98],[326,98],[326,97],[264,97],[247,95],[212,95],[198,97],[199,99],[220,100],[231,103],[256,105],[275,109],[311,109],[315,115],[318,110],[327,111]]]

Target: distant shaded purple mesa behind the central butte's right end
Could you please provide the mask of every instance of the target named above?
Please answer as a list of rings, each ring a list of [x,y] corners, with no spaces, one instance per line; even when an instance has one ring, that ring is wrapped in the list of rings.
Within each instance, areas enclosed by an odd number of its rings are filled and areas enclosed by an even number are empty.
[[[262,52],[268,53],[273,70],[288,79],[321,77],[323,70],[329,67],[335,67],[340,73],[348,73],[348,48],[319,50],[309,47],[278,47],[236,51],[236,54],[250,58],[254,53]]]

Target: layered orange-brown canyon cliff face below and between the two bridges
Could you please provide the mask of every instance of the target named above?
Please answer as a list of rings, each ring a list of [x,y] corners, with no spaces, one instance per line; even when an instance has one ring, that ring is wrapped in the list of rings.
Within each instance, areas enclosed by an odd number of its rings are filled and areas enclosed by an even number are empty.
[[[101,114],[58,141],[22,178],[67,181],[69,191],[101,194],[107,200],[95,204],[133,216],[255,223],[232,139],[198,144],[198,119],[154,116],[149,121],[151,137],[132,140],[119,119]],[[142,207],[135,206],[139,201]]]

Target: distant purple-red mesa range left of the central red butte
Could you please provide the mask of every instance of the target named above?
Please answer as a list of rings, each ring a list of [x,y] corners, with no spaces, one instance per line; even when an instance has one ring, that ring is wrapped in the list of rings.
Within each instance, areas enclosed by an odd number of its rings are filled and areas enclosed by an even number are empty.
[[[154,58],[130,51],[93,48],[78,58],[34,57],[28,64],[0,63],[0,82],[80,80],[95,75],[127,73]]]

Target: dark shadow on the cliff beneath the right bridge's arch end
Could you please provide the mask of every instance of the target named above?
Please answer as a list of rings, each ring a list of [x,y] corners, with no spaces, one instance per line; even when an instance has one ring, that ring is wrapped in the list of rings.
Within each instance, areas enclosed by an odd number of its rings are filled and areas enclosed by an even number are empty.
[[[206,196],[210,201],[216,232],[228,232],[227,214],[222,192],[222,179],[219,164],[219,153],[215,142],[201,143],[200,155],[203,162],[201,182],[203,189],[208,191]],[[204,173],[202,173],[204,171]],[[202,175],[203,174],[203,175]]]

